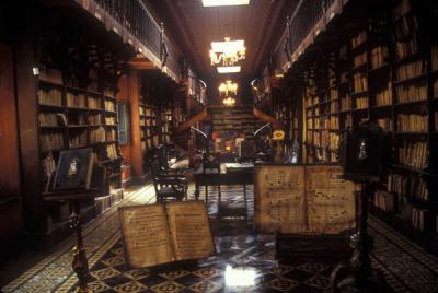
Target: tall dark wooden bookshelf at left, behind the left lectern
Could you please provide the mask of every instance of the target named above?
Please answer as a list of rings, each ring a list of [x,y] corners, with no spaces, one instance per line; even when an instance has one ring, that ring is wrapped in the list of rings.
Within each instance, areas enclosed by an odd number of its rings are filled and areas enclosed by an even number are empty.
[[[26,227],[42,234],[62,233],[69,225],[66,204],[47,204],[39,196],[48,188],[61,151],[91,148],[94,163],[106,168],[102,198],[112,206],[123,197],[114,70],[119,59],[91,43],[71,42],[62,47],[50,42],[56,40],[39,44],[37,56],[27,52],[33,44],[23,43],[18,62],[19,70],[26,71],[35,65],[32,75],[18,78],[20,86],[30,84],[20,92],[19,113],[25,117],[20,127],[32,131],[21,138],[25,141],[21,152],[27,154],[23,161]],[[85,204],[85,221],[108,208],[102,206],[102,198]]]

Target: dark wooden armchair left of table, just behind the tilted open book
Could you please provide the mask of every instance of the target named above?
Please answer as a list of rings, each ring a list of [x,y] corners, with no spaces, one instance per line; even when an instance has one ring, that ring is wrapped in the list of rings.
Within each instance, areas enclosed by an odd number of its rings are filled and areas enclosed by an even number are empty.
[[[152,162],[152,180],[157,201],[187,199],[187,179],[172,174],[162,174],[157,160]]]

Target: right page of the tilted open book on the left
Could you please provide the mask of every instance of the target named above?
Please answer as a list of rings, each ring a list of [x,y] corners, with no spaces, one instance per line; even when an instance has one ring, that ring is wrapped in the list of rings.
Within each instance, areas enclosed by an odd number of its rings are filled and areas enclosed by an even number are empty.
[[[215,253],[204,202],[172,202],[166,209],[177,260],[205,258]]]

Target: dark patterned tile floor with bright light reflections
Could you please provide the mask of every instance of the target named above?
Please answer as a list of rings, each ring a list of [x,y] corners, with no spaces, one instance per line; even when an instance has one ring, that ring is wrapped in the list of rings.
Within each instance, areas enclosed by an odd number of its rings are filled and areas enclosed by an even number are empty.
[[[90,286],[94,292],[331,292],[330,274],[337,261],[277,261],[274,236],[257,234],[252,227],[252,192],[249,188],[245,218],[241,187],[222,187],[221,212],[227,209],[227,214],[234,215],[227,219],[218,216],[217,192],[212,188],[208,210],[217,254],[208,259],[151,270],[126,268],[116,209],[106,212],[84,228]],[[153,188],[147,186],[127,192],[123,204],[151,200]],[[384,273],[390,292],[438,292],[436,257],[376,219],[370,220],[369,226],[376,241],[372,265]],[[73,239],[69,238],[2,292],[72,292],[77,282],[70,267],[72,245]],[[247,283],[235,286],[235,281]]]

